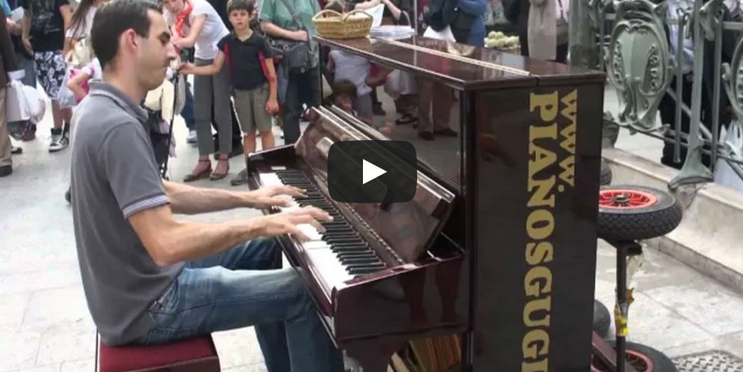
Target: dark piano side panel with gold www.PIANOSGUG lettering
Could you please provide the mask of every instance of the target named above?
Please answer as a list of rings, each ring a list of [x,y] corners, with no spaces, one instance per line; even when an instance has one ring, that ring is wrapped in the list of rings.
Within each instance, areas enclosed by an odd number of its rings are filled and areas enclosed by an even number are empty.
[[[603,85],[472,97],[472,371],[589,371]]]

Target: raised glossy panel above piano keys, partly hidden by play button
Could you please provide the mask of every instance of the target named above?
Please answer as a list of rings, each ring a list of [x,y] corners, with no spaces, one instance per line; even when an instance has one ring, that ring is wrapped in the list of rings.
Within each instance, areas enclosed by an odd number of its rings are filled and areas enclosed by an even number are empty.
[[[308,125],[295,148],[327,193],[328,150],[332,143],[375,140],[327,108],[313,108],[317,117]],[[418,171],[415,196],[405,203],[339,203],[348,206],[403,262],[418,260],[433,243],[452,211],[455,195]]]

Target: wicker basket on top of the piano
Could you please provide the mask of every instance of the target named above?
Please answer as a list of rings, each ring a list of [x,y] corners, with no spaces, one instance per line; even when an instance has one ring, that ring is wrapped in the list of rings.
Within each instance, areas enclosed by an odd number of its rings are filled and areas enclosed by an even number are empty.
[[[328,39],[356,39],[369,36],[374,17],[363,10],[345,16],[335,10],[322,10],[312,17],[317,35]]]

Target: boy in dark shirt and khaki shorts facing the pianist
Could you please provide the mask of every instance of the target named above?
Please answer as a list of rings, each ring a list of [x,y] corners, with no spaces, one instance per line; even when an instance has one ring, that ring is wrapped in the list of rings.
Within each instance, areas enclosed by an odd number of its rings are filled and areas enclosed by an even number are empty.
[[[256,129],[261,134],[263,149],[273,147],[271,115],[279,111],[271,49],[265,39],[250,28],[254,9],[252,0],[230,0],[227,13],[233,31],[218,42],[219,52],[212,65],[181,66],[181,74],[213,75],[227,61],[246,161],[248,154],[256,151]],[[247,169],[230,183],[233,186],[247,183]]]

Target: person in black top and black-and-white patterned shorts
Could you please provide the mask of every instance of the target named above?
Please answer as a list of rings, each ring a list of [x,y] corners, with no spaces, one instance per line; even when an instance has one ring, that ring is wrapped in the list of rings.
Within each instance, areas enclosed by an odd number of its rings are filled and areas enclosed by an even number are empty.
[[[54,128],[51,130],[49,151],[55,152],[65,149],[70,142],[72,111],[59,108],[56,97],[67,74],[62,48],[65,46],[65,30],[70,24],[72,11],[68,0],[22,0],[21,4],[24,9],[22,44],[28,53],[33,53],[36,78],[52,102]],[[63,125],[64,122],[68,125]]]

